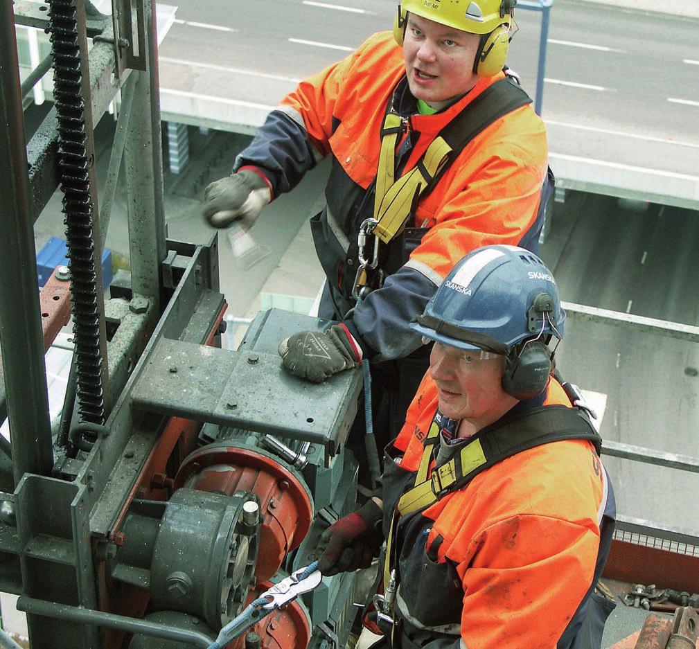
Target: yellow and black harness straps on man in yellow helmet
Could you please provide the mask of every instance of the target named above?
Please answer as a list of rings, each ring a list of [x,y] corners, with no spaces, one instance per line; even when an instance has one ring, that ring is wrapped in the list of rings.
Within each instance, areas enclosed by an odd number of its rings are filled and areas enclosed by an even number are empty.
[[[487,87],[469,103],[428,146],[415,168],[394,182],[396,142],[401,134],[400,116],[387,112],[381,131],[381,150],[376,175],[373,234],[390,242],[403,230],[417,199],[428,194],[442,173],[487,126],[520,106],[531,103],[529,96],[510,78]]]

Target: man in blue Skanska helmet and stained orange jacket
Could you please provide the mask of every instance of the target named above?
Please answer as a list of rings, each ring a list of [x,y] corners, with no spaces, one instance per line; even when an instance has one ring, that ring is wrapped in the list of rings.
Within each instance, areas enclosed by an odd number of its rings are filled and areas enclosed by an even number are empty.
[[[564,321],[540,258],[496,245],[459,261],[412,324],[430,368],[382,490],[319,543],[336,574],[386,539],[386,646],[600,646],[614,496],[579,393],[554,377]]]

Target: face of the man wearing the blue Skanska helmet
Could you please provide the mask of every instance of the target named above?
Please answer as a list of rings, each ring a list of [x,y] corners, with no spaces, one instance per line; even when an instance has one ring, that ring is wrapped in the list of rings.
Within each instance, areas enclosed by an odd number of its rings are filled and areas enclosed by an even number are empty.
[[[435,342],[430,374],[442,414],[473,424],[473,432],[497,421],[517,403],[503,391],[504,370],[504,356],[462,351]]]

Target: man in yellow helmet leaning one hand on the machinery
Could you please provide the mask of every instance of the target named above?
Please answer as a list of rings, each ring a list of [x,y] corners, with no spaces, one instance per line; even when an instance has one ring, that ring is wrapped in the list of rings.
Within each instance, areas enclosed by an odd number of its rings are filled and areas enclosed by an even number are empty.
[[[311,227],[327,277],[319,316],[339,324],[296,334],[280,353],[311,381],[368,358],[375,406],[388,415],[375,423],[379,444],[398,433],[428,367],[410,317],[469,251],[538,249],[547,139],[505,73],[515,3],[403,0],[392,33],[301,82],[231,176],[206,189],[212,226],[250,223],[331,158],[327,205]]]

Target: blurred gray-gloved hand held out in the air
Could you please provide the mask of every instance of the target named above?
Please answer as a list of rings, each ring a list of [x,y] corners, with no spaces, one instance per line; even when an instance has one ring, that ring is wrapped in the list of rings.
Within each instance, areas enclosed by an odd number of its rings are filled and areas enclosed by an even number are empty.
[[[237,219],[249,225],[272,200],[268,184],[251,169],[241,169],[215,180],[204,190],[204,218],[215,228],[226,228]]]

